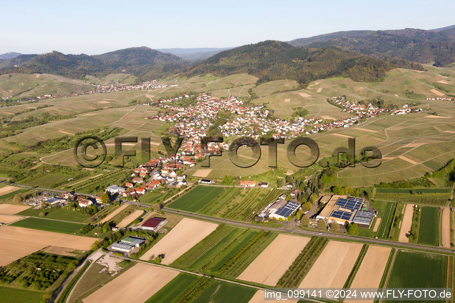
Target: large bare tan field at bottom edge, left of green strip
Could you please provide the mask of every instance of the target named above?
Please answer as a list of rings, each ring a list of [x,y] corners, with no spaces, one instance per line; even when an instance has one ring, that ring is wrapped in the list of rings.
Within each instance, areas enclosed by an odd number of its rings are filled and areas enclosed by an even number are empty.
[[[84,303],[144,303],[178,275],[177,270],[137,263],[96,292]]]

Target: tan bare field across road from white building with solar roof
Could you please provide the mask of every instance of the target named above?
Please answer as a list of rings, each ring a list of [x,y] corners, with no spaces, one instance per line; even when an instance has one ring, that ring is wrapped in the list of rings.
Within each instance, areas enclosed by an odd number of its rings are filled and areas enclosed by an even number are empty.
[[[310,238],[279,234],[237,278],[274,286]],[[274,262],[270,260],[279,256]]]

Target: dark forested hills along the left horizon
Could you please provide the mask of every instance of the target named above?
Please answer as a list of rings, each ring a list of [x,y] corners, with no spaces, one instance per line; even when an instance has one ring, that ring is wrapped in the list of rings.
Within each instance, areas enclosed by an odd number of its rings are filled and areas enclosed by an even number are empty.
[[[85,75],[104,76],[124,71],[143,79],[156,79],[188,61],[147,47],[116,50],[102,55],[65,55],[52,51],[42,55],[20,55],[0,62],[0,74],[48,73],[73,79]],[[17,66],[15,66],[17,65]]]

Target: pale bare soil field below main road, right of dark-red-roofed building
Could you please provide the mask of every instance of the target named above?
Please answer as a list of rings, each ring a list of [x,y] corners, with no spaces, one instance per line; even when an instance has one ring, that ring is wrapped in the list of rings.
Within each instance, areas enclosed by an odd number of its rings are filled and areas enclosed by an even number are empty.
[[[141,260],[164,255],[162,264],[169,265],[212,233],[217,226],[218,224],[183,218],[166,236],[144,253]]]

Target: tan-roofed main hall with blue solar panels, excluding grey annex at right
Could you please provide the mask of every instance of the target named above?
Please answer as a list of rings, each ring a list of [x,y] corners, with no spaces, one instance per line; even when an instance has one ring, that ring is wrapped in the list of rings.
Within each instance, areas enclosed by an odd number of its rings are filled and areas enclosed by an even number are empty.
[[[324,219],[326,222],[353,222],[354,216],[364,205],[364,199],[350,196],[333,195],[325,204],[324,209],[316,216],[316,219]]]

